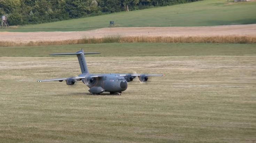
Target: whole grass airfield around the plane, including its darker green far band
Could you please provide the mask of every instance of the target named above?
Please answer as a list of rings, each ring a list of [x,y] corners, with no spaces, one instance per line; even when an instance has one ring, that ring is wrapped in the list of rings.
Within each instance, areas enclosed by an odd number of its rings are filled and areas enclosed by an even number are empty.
[[[102,52],[86,57],[91,73],[136,71],[165,76],[153,77],[148,84],[135,80],[121,96],[92,96],[82,83],[70,87],[63,82],[36,82],[80,73],[76,56],[37,56],[76,52],[81,47]],[[163,43],[52,50],[49,46],[1,47],[0,141],[253,143],[254,47]]]

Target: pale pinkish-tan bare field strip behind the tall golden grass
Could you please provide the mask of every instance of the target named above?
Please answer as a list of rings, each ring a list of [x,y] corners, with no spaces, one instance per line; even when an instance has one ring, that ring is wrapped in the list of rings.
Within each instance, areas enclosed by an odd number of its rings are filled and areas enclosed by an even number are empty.
[[[75,32],[0,32],[0,41],[62,41],[104,36],[224,36],[256,35],[256,24],[205,27],[116,27]]]

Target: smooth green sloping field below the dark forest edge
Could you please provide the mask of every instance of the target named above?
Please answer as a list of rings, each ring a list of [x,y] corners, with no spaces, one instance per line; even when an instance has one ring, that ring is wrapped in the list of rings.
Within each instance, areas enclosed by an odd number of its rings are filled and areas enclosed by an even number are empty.
[[[121,27],[169,27],[215,26],[255,24],[256,2],[227,2],[227,0],[203,0],[182,5],[58,21],[38,25],[26,25],[9,31],[75,31],[108,27],[115,21]],[[5,29],[6,30],[6,29]]]

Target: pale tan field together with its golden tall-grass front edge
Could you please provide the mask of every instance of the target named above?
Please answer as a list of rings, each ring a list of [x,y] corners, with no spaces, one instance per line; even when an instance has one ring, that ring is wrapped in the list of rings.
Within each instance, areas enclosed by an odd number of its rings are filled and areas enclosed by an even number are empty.
[[[256,43],[256,25],[203,27],[117,27],[75,32],[0,32],[0,46],[37,46],[113,42]],[[85,39],[93,38],[85,42]],[[115,38],[114,38],[115,39]]]

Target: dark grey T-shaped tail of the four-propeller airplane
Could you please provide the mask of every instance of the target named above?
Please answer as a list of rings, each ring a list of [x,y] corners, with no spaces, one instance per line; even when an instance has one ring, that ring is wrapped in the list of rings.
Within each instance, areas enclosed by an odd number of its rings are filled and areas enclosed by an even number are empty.
[[[85,54],[100,54],[100,53],[84,53],[83,49],[77,51],[76,53],[57,53],[57,54],[49,54],[49,55],[77,55],[77,59],[81,68],[82,73],[89,73],[89,70],[85,61]]]

